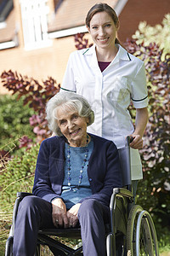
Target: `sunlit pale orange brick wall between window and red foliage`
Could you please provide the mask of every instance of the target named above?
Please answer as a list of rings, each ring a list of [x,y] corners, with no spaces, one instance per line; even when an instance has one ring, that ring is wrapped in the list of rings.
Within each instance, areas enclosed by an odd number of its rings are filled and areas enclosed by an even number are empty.
[[[88,34],[86,38],[89,38]],[[54,39],[48,48],[26,51],[22,46],[0,51],[0,73],[18,71],[22,75],[42,81],[48,76],[61,83],[68,57],[75,50],[73,37]],[[8,93],[0,84],[0,94]]]

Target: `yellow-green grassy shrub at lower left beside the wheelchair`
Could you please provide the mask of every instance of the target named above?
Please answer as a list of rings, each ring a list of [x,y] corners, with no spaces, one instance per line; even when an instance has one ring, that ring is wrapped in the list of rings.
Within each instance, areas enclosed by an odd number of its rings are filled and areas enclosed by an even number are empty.
[[[9,143],[8,147],[14,148],[14,143]],[[13,159],[6,160],[3,157],[0,160],[0,256],[4,255],[5,242],[12,224],[16,193],[32,190],[39,146],[37,143],[28,150],[20,148]]]

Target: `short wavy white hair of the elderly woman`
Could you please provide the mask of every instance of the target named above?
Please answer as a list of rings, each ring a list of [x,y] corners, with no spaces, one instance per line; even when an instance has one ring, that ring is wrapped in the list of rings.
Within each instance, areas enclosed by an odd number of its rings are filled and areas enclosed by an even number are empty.
[[[74,110],[79,116],[88,118],[87,125],[92,125],[94,123],[94,111],[84,97],[73,92],[60,92],[53,96],[46,106],[48,127],[58,136],[62,136],[62,133],[56,121],[57,108],[62,108],[64,111],[68,111],[68,109],[71,111]]]

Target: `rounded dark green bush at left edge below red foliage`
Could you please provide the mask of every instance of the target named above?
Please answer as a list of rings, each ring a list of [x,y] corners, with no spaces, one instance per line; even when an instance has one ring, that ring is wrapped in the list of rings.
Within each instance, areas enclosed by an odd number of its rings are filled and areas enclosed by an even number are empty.
[[[0,151],[9,151],[8,143],[15,140],[17,146],[19,137],[26,135],[35,138],[29,118],[35,113],[29,106],[23,106],[23,100],[17,101],[16,96],[0,96]]]

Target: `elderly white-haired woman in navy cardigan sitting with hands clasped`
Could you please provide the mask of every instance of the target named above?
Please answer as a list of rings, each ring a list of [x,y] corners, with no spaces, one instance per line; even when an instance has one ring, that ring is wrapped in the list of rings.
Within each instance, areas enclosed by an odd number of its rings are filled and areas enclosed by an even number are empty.
[[[34,255],[39,228],[77,225],[83,255],[105,255],[111,193],[122,186],[116,146],[87,133],[94,112],[82,96],[59,93],[46,110],[49,128],[57,136],[42,142],[33,195],[20,202],[14,256]]]

